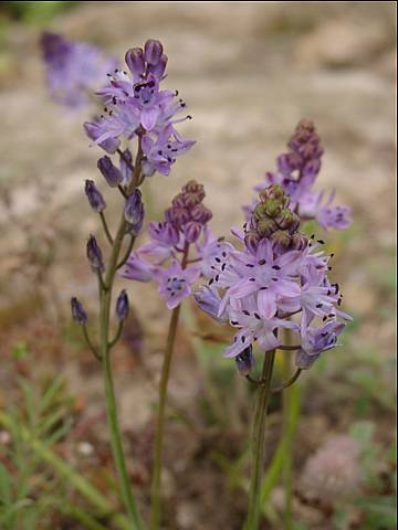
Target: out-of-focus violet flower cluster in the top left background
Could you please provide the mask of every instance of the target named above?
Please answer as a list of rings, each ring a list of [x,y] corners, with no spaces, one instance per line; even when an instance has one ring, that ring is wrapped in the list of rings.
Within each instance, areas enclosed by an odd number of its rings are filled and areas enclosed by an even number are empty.
[[[52,98],[71,108],[88,104],[88,93],[105,84],[106,73],[117,66],[86,42],[72,42],[56,33],[44,32],[40,41]]]

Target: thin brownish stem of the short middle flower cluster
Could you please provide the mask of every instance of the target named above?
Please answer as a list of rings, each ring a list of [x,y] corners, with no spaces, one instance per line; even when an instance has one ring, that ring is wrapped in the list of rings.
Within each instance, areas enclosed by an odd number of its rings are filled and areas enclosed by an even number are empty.
[[[186,268],[188,263],[189,244],[186,243],[184,248],[184,256],[181,267]],[[171,358],[174,352],[174,344],[177,333],[178,319],[180,314],[180,305],[178,305],[171,312],[170,325],[166,341],[165,358],[161,367],[160,384],[159,384],[159,398],[158,398],[158,413],[156,420],[156,433],[155,433],[155,454],[154,454],[154,470],[150,488],[150,522],[149,529],[156,530],[159,528],[160,522],[160,478],[161,478],[161,457],[163,457],[163,439],[165,427],[165,411],[166,411],[166,396],[167,386],[170,375]]]

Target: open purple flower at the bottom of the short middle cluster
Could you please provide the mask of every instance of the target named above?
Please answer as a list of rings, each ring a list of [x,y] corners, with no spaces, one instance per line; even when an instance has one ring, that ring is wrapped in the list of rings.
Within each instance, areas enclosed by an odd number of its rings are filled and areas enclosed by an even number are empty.
[[[191,294],[191,286],[200,276],[200,267],[184,269],[175,259],[168,268],[156,268],[154,278],[159,284],[159,294],[169,309],[177,307]]]

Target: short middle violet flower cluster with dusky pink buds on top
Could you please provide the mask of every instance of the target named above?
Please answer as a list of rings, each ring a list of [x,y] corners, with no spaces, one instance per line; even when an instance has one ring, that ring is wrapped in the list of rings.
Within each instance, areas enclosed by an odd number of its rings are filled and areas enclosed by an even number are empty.
[[[121,269],[128,279],[155,280],[169,309],[190,296],[192,285],[203,273],[203,253],[213,244],[207,226],[212,214],[202,204],[203,199],[203,187],[189,181],[174,198],[164,221],[149,223],[150,242],[132,253]],[[192,257],[190,250],[196,252]]]

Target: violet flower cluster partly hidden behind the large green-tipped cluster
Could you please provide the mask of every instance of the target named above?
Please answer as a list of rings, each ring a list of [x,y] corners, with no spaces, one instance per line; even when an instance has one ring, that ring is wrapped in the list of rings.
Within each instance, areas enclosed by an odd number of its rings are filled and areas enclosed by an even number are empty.
[[[347,229],[352,223],[350,209],[332,204],[334,191],[324,200],[323,191],[313,190],[324,150],[311,120],[302,119],[298,123],[287,148],[287,152],[276,160],[277,170],[266,172],[264,182],[256,186],[254,191],[262,191],[270,184],[280,184],[291,201],[291,209],[303,221],[313,219],[325,230]],[[244,206],[248,219],[256,202]]]

